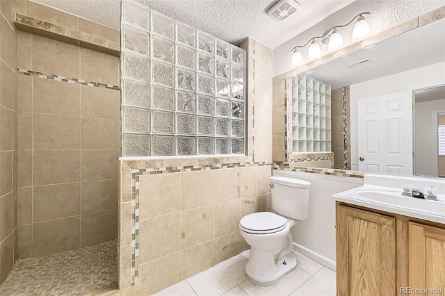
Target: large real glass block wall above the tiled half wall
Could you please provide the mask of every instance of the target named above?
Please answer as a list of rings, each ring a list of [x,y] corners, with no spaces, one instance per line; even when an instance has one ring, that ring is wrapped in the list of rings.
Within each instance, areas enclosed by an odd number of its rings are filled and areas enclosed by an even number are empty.
[[[244,154],[245,51],[122,3],[123,156]]]

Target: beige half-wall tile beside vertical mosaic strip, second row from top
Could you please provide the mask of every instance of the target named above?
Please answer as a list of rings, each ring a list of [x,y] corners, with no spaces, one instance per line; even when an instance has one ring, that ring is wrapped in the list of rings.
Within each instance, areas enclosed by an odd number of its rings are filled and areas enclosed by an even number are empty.
[[[140,220],[139,242],[140,263],[178,252],[181,249],[181,213]]]

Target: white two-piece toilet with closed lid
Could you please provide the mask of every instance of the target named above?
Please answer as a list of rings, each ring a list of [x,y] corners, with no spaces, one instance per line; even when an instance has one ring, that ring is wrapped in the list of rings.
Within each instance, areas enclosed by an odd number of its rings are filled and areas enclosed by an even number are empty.
[[[239,222],[241,236],[250,245],[245,273],[253,283],[270,286],[295,270],[291,256],[293,225],[307,218],[311,183],[284,176],[271,176],[272,210],[246,215]]]

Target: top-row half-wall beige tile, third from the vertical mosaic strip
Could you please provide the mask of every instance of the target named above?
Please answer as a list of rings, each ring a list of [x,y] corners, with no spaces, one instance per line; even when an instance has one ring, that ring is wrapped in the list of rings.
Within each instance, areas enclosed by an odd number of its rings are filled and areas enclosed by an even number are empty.
[[[240,168],[215,170],[215,202],[238,199],[240,190]]]

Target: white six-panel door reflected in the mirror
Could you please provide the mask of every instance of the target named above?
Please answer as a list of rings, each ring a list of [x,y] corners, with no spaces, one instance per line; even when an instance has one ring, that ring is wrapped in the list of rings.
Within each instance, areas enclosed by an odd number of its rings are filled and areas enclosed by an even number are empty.
[[[412,91],[357,101],[359,170],[412,174]]]

